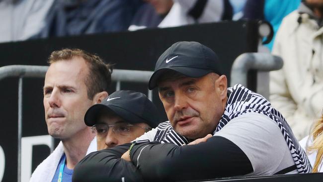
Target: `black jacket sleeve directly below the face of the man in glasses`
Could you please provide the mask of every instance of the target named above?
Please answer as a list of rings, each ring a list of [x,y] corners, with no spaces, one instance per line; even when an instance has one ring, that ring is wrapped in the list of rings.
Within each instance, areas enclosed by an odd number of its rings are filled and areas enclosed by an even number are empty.
[[[72,182],[143,182],[137,168],[121,159],[130,145],[88,154],[75,167]]]

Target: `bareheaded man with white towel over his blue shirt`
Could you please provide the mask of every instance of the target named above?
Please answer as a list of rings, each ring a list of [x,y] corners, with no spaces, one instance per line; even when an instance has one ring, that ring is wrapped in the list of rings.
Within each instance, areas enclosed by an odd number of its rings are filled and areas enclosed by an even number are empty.
[[[80,49],[54,51],[44,83],[48,133],[61,140],[54,152],[34,171],[31,182],[69,182],[76,164],[89,152],[94,134],[84,114],[108,96],[111,65]]]

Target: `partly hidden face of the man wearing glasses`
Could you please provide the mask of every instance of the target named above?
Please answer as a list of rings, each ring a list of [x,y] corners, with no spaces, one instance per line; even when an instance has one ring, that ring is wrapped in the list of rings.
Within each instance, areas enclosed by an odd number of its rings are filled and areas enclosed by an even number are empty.
[[[146,132],[146,123],[131,124],[116,115],[101,114],[96,124],[97,150],[108,149],[130,143]],[[110,127],[107,127],[110,125]]]

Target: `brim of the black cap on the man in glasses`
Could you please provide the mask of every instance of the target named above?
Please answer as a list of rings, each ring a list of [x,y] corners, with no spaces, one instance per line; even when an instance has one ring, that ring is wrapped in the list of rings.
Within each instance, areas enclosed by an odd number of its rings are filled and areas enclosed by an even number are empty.
[[[87,126],[93,126],[94,124],[97,123],[97,117],[99,114],[102,113],[102,110],[106,111],[112,111],[115,113],[117,116],[121,117],[124,119],[126,122],[129,123],[141,123],[141,122],[147,122],[145,119],[139,117],[138,115],[118,106],[114,105],[104,105],[104,104],[95,104],[92,105],[85,113],[84,116],[84,122]],[[151,127],[156,127],[156,126],[151,126]]]

